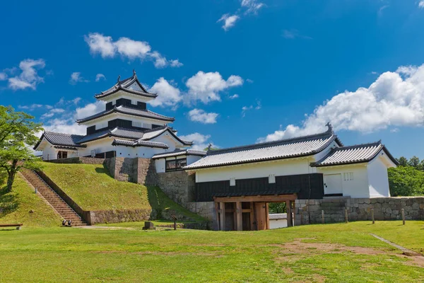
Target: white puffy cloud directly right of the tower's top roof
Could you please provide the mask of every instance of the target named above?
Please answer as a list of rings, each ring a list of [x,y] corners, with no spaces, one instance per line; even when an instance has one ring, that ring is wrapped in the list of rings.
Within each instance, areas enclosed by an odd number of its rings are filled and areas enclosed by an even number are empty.
[[[171,83],[173,83],[171,81]],[[149,101],[152,106],[175,106],[182,100],[181,92],[175,86],[172,86],[167,80],[160,78],[148,90],[151,93],[158,93],[158,97]]]

